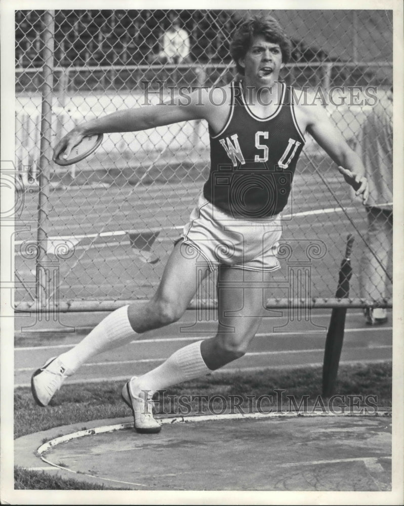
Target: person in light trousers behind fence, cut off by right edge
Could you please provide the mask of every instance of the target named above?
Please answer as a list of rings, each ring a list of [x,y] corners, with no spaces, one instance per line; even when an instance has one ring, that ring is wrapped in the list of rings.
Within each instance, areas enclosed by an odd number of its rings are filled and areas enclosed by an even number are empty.
[[[386,295],[386,270],[393,239],[392,91],[391,88],[387,98],[379,101],[363,122],[356,150],[369,183],[366,240],[370,247],[365,247],[361,259],[360,296],[371,300]],[[367,308],[365,318],[369,325],[385,323],[386,310]]]

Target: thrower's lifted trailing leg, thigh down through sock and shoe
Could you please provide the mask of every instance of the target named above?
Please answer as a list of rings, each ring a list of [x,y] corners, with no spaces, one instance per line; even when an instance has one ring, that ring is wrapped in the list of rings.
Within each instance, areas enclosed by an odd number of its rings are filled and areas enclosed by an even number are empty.
[[[59,357],[52,357],[31,378],[35,401],[46,406],[71,376],[95,355],[123,346],[136,339],[136,332],[145,332],[177,321],[185,312],[200,280],[208,268],[197,265],[195,250],[179,242],[173,249],[163,278],[151,301],[117,309],[104,318],[80,343]],[[198,272],[198,275],[197,275]],[[200,355],[200,352],[198,352]],[[205,363],[203,363],[205,367]]]

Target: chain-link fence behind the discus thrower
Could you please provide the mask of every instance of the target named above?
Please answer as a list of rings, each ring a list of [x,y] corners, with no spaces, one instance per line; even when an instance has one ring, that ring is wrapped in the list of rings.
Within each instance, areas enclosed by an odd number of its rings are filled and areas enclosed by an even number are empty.
[[[350,146],[376,166],[375,143],[382,136],[391,143],[391,117],[372,141],[363,125],[376,121],[374,113],[390,113],[392,12],[265,12],[292,38],[281,78],[297,92],[309,88]],[[236,75],[234,30],[258,13],[16,11],[15,164],[24,193],[15,241],[18,307],[41,299],[110,309],[151,297],[209,174],[207,124],[105,135],[94,155],[68,168],[52,162],[52,147],[84,120],[158,103],[183,87],[228,83]],[[390,304],[392,164],[383,162],[385,179],[374,182],[381,200],[367,210],[307,135],[284,210],[282,269],[270,305],[333,298],[348,232],[356,239],[350,302]],[[209,298],[212,290],[204,289]]]

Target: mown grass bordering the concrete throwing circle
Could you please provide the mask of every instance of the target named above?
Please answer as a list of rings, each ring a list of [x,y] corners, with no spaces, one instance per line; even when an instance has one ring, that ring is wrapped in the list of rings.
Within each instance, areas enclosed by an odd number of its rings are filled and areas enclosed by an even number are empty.
[[[336,399],[338,404],[347,403],[348,396],[357,396],[361,406],[366,406],[367,396],[373,396],[372,402],[378,409],[391,407],[391,363],[377,363],[367,365],[344,365],[338,372],[336,394],[342,399]],[[308,406],[328,405],[328,399],[320,399],[322,382],[322,370],[320,367],[305,367],[298,369],[263,370],[251,373],[214,374],[198,378],[181,385],[170,387],[164,395],[160,393],[157,400],[159,415],[196,414],[198,405],[190,402],[191,413],[181,411],[179,404],[180,396],[207,396],[201,400],[199,414],[209,414],[212,409],[222,407],[222,400],[218,396],[229,401],[231,396],[239,398],[240,406],[248,408],[248,396],[272,396],[272,404],[262,404],[264,411],[272,408],[289,409],[288,397],[294,396],[297,404],[303,396],[308,396]],[[47,408],[37,406],[28,388],[18,388],[15,391],[15,418],[14,437],[18,438],[26,434],[44,431],[61,425],[83,423],[83,428],[88,421],[101,418],[126,417],[131,411],[120,399],[122,383],[103,382],[97,384],[66,384],[58,392]],[[282,405],[276,403],[275,390],[282,391]],[[279,398],[278,394],[278,398]],[[216,396],[216,402],[210,402]],[[202,399],[202,398],[200,398]],[[210,400],[209,400],[210,399]],[[320,399],[320,402],[319,402]],[[348,399],[349,403],[349,399]],[[229,404],[228,404],[229,405]],[[217,412],[217,411],[216,411]],[[245,411],[246,412],[246,411]],[[88,484],[77,487],[75,480],[63,480],[62,478],[48,477],[45,473],[24,471],[16,468],[15,488],[30,489],[70,489],[74,485],[77,488],[96,488]],[[65,482],[65,483],[64,483]],[[101,488],[100,488],[101,489]]]

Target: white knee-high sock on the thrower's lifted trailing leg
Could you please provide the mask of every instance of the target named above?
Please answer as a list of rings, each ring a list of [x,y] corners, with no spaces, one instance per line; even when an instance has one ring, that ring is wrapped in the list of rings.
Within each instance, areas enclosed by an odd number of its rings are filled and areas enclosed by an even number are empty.
[[[136,332],[129,318],[128,307],[124,306],[110,313],[74,348],[62,353],[59,359],[72,372],[98,353],[112,350],[132,341]]]

